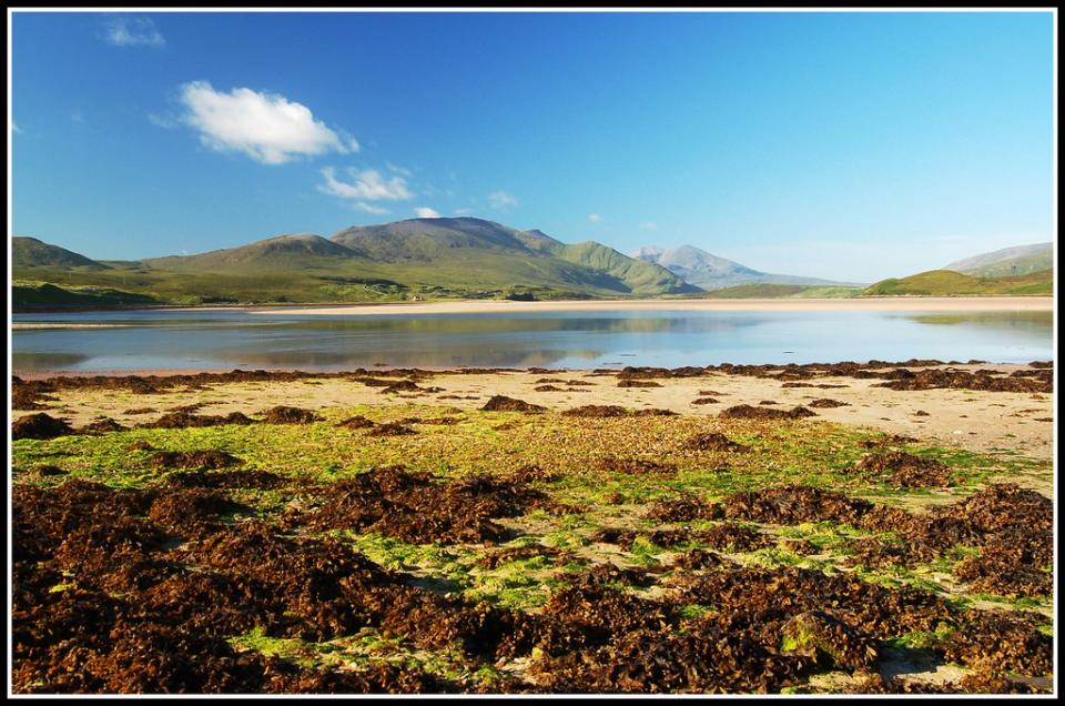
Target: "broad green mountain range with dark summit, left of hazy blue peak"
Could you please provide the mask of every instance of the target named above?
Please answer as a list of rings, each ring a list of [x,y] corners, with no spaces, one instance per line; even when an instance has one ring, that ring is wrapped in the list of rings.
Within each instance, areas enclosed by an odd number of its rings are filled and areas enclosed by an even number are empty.
[[[39,243],[36,249],[49,248]],[[474,218],[354,226],[328,239],[308,233],[278,235],[239,248],[97,266],[101,269],[54,255],[22,258],[12,275],[20,286],[47,282],[71,290],[112,288],[180,304],[700,292],[665,268],[600,243],[566,244],[538,230],[520,231]],[[28,291],[22,294],[29,297]]]

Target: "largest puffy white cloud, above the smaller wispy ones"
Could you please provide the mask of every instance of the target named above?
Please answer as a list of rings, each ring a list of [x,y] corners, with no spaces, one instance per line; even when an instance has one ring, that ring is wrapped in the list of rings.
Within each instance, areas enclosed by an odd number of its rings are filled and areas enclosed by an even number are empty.
[[[181,87],[183,122],[200,131],[200,141],[220,152],[243,152],[264,164],[282,164],[298,155],[358,151],[358,142],[315,120],[306,105],[284,95],[237,88],[215,91],[206,81]]]

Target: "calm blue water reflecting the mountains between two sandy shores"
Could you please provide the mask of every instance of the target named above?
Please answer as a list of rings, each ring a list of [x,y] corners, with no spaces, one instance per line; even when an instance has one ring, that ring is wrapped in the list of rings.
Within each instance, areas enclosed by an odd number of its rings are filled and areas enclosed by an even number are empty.
[[[13,372],[389,366],[611,367],[1053,357],[1052,312],[544,312],[307,316],[237,311],[20,314]]]

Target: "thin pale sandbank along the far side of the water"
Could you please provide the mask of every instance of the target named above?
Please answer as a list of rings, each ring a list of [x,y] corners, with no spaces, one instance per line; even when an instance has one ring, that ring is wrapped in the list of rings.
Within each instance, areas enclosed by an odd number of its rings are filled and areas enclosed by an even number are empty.
[[[253,314],[480,314],[566,311],[1053,311],[1053,296],[869,296],[861,299],[680,299],[513,302],[464,300],[322,306],[234,306]]]

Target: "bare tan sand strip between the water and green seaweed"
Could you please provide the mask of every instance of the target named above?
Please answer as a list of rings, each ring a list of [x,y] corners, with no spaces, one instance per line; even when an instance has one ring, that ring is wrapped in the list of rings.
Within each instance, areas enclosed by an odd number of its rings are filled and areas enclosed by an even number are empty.
[[[911,365],[907,366],[906,363]],[[881,373],[894,367],[923,370],[949,366],[970,374],[991,370],[995,371],[993,374],[1000,380],[1016,377],[1017,372],[1033,372],[1031,363],[929,363],[932,361],[884,362],[874,367]],[[770,367],[774,371],[788,370],[787,365]],[[90,380],[87,381],[88,384],[58,384],[48,393],[58,396],[58,400],[45,399],[43,411],[51,414],[58,411],[75,425],[90,424],[101,416],[131,425],[145,421],[145,417],[139,416],[141,413],[135,411],[136,407],[145,405],[162,413],[173,410],[175,405],[195,403],[206,406],[206,414],[255,414],[275,405],[335,411],[351,410],[358,405],[384,410],[413,404],[473,412],[480,410],[489,397],[504,395],[554,412],[564,412],[582,404],[620,405],[632,409],[665,409],[687,417],[710,420],[717,418],[720,412],[733,405],[761,406],[769,401],[770,404],[778,405],[777,409],[788,410],[828,399],[828,406],[812,405],[820,421],[850,427],[878,428],[925,440],[935,438],[939,444],[970,451],[1013,448],[1034,458],[1049,458],[1054,448],[1054,395],[1032,390],[995,391],[964,385],[896,390],[881,386],[890,380],[883,374],[854,375],[851,374],[853,371],[845,367],[814,371],[805,366],[782,376],[720,369],[708,369],[698,375],[663,376],[655,371],[671,369],[650,369],[647,374],[637,376],[642,381],[642,384],[638,385],[622,385],[623,379],[619,376],[619,370],[418,370],[427,373],[427,376],[423,379],[413,369],[372,369],[359,375],[349,374],[355,371],[324,374],[300,371],[301,374],[295,375],[268,373],[248,379],[230,377],[229,371],[217,371],[219,379],[170,384],[164,380],[162,387],[148,385],[149,392],[142,393],[132,391],[143,386],[130,387],[118,380],[113,384],[108,380]],[[171,375],[196,374],[192,371],[155,373],[163,373],[160,376],[164,379]],[[122,375],[99,377],[120,379],[133,375],[138,373],[129,371]],[[54,381],[71,376],[98,377],[79,373],[42,373],[22,376],[22,380],[32,385],[41,380]],[[149,375],[142,373],[140,376]],[[408,385],[410,381],[417,381],[419,386],[385,393],[382,385],[366,384],[367,379],[375,376]],[[795,380],[802,382],[794,383]],[[195,384],[186,386],[187,382]],[[551,382],[556,384],[549,384]],[[822,385],[825,386],[822,389]],[[704,391],[712,391],[713,395],[708,395]],[[12,417],[28,413],[12,410]]]

